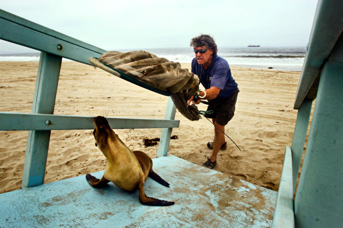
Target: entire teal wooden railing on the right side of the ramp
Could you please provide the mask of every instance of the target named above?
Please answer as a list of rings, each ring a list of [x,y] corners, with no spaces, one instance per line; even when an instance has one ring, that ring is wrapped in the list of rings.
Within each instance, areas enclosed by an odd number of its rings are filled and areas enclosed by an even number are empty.
[[[294,109],[298,109],[298,115],[292,146],[286,147],[273,216],[274,228],[343,226],[342,31],[342,1],[320,0],[295,98]]]

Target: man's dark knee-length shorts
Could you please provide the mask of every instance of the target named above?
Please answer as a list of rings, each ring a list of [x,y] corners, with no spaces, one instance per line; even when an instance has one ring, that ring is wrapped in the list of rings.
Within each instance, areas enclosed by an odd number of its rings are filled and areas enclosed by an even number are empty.
[[[208,100],[210,105],[207,107],[207,111],[212,110],[213,113],[205,114],[205,117],[216,119],[215,122],[222,126],[226,125],[234,117],[238,93],[239,89],[237,88],[226,100]]]

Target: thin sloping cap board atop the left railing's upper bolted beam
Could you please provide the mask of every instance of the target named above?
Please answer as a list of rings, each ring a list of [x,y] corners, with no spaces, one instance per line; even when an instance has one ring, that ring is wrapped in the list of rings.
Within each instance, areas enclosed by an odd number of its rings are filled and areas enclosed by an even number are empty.
[[[1,10],[1,9],[0,9],[0,18],[3,18],[5,20],[13,22],[15,24],[22,25],[22,26],[27,27],[27,28],[33,29],[35,31],[44,33],[46,35],[55,37],[57,39],[66,41],[68,43],[75,44],[77,46],[88,49],[90,51],[97,52],[99,54],[103,54],[104,52],[106,52],[106,50],[104,50],[104,49],[98,48],[98,47],[93,46],[91,44],[85,43],[81,40],[77,40],[77,39],[72,38],[70,36],[64,35],[63,33],[57,32],[57,31],[52,30],[50,28],[47,28],[47,27],[44,27],[42,25],[36,24],[34,22],[28,21],[25,18],[19,17],[17,15],[11,14],[11,13],[4,11],[4,10]]]

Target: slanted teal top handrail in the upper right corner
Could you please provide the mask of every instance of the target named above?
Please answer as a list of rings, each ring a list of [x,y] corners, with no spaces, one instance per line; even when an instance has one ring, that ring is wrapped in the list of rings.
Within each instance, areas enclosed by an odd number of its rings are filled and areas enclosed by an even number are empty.
[[[319,0],[300,76],[294,109],[298,109],[343,31],[341,0]]]

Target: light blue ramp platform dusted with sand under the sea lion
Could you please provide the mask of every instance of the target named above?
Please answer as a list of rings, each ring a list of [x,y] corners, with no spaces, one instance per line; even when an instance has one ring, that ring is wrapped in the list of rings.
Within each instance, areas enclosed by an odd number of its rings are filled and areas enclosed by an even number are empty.
[[[0,227],[270,227],[277,193],[168,155],[153,159],[149,197],[174,201],[146,206],[138,191],[109,183],[91,187],[85,175],[0,195]],[[104,171],[93,173],[97,178]]]

